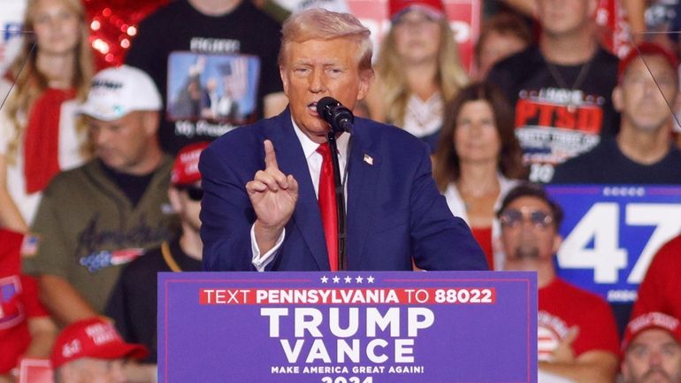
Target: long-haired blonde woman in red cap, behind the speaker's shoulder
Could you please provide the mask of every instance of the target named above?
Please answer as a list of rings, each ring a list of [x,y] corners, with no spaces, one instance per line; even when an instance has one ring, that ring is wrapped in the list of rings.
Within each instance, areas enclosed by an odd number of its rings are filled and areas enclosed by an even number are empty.
[[[434,150],[444,104],[468,82],[440,0],[390,0],[392,27],[376,62],[371,119],[400,126]]]

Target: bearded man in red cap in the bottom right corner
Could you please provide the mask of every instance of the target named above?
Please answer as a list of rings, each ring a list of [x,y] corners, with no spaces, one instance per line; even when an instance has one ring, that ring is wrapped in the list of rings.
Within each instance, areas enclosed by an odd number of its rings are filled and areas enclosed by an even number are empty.
[[[681,382],[681,328],[678,318],[647,312],[629,322],[622,343],[625,383]]]

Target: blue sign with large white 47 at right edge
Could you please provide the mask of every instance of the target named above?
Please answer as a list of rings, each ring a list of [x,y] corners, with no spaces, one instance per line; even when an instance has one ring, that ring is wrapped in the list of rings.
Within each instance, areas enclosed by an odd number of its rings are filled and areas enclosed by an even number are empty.
[[[608,302],[632,302],[655,252],[681,233],[681,188],[550,186],[565,211],[559,274]]]

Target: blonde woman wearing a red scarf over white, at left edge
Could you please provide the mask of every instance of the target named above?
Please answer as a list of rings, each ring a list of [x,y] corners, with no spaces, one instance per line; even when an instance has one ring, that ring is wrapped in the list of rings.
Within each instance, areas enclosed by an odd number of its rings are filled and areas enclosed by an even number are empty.
[[[0,80],[0,226],[24,232],[51,178],[87,159],[75,124],[94,68],[80,0],[28,0],[19,57]]]

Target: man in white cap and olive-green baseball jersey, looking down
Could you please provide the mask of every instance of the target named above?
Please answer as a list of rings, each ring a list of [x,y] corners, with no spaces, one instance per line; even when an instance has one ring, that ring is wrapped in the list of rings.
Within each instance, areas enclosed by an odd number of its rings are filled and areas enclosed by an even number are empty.
[[[170,234],[172,159],[157,142],[160,108],[139,69],[109,68],[93,79],[80,112],[96,157],[51,181],[33,226],[36,254],[24,262],[61,324],[101,314],[123,264]]]

